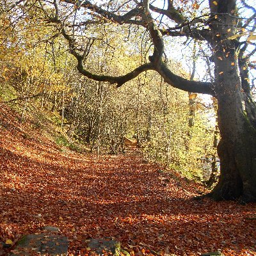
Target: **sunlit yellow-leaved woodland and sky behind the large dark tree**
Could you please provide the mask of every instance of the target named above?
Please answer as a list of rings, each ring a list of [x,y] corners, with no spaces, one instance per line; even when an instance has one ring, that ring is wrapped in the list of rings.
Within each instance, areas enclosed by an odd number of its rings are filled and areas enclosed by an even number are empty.
[[[182,8],[191,17],[207,8],[205,1],[176,2],[172,4],[181,6],[178,9]],[[95,4],[108,6],[120,14],[128,12],[132,1],[95,1]],[[239,4],[248,17],[255,14],[250,3]],[[76,150],[84,145],[97,154],[123,152],[125,137],[136,140],[145,158],[211,187],[220,171],[216,153],[220,140],[216,99],[208,97],[205,101],[197,93],[173,88],[152,70],[120,88],[88,79],[77,71],[77,60],[70,54],[65,35],[47,20],[49,13],[54,12],[51,4],[44,1],[3,1],[1,6],[1,98],[20,111],[20,122],[26,122],[29,115],[53,113],[61,127],[57,143]],[[85,52],[84,67],[95,74],[121,76],[152,54],[147,29],[132,24],[117,26],[93,10],[83,13],[76,5],[64,13],[67,28]],[[161,13],[154,19],[164,32]],[[236,40],[250,37],[252,91],[253,31],[242,28],[239,36],[234,36]],[[214,67],[207,44],[189,37],[164,40],[168,45],[164,58],[172,72],[186,79],[213,83]]]

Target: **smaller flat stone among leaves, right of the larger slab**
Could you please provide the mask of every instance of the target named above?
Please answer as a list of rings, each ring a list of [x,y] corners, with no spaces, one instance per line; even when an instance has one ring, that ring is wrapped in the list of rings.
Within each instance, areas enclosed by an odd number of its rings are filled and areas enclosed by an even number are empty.
[[[111,239],[90,239],[88,247],[98,255],[102,255],[103,251],[111,252],[112,255],[119,255],[120,243]]]

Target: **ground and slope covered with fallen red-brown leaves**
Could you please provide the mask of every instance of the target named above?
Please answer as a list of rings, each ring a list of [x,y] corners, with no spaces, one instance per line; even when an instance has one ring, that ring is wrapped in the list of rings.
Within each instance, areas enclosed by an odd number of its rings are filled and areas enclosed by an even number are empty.
[[[61,150],[7,107],[0,121],[0,241],[57,226],[69,255],[85,255],[91,237],[113,237],[135,255],[256,255],[255,204],[195,201],[202,186],[138,152]]]

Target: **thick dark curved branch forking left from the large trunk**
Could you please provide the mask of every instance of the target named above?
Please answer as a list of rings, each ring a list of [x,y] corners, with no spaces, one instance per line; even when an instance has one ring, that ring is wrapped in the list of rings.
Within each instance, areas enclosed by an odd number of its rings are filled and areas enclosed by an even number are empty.
[[[65,2],[74,4],[74,2],[70,0],[65,0]],[[166,65],[163,63],[163,60],[162,60],[162,56],[164,52],[163,35],[161,33],[161,30],[157,28],[154,22],[154,19],[150,13],[148,0],[143,0],[144,10],[142,10],[141,8],[137,8],[137,9],[131,10],[130,12],[126,13],[123,16],[115,15],[111,12],[103,10],[99,6],[95,6],[94,4],[90,3],[90,1],[84,1],[82,5],[84,6],[84,8],[93,10],[94,12],[99,13],[103,17],[106,17],[107,19],[110,19],[110,20],[115,20],[120,24],[129,23],[133,21],[133,20],[130,20],[131,17],[134,17],[134,15],[137,15],[138,13],[140,13],[143,19],[142,21],[140,21],[141,24],[143,24],[143,26],[145,26],[145,28],[147,28],[148,31],[150,32],[150,36],[154,44],[154,54],[149,58],[150,63],[145,63],[140,67],[135,68],[128,74],[125,74],[124,76],[114,77],[114,76],[104,76],[104,75],[93,74],[92,72],[89,72],[84,68],[84,65],[83,65],[84,54],[81,55],[79,54],[79,52],[76,51],[76,42],[74,41],[72,36],[67,35],[65,29],[63,28],[61,32],[63,36],[68,40],[70,53],[76,57],[78,61],[77,69],[81,74],[95,81],[109,82],[110,84],[116,84],[116,87],[120,87],[127,81],[130,81],[131,79],[137,77],[139,74],[141,74],[141,72],[144,72],[146,70],[156,70],[161,76],[163,76],[164,81],[166,83],[172,85],[175,88],[179,88],[187,92],[215,95],[214,88],[211,83],[189,81],[187,79],[184,79],[183,77],[173,74],[173,72],[171,72],[168,69],[168,67],[166,67]]]

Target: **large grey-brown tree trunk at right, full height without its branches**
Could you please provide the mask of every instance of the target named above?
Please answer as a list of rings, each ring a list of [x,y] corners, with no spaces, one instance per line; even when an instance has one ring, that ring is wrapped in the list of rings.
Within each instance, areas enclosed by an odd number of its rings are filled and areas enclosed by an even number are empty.
[[[215,93],[218,99],[218,125],[221,141],[220,180],[209,194],[216,200],[256,201],[256,131],[248,118],[241,83],[236,40],[236,0],[209,0],[212,13],[212,52],[215,64]],[[255,109],[254,109],[255,110]]]

